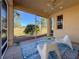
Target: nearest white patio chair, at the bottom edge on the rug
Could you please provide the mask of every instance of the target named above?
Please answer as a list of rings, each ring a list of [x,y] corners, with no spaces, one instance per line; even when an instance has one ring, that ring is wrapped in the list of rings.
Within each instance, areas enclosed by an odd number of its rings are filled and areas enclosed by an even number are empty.
[[[59,51],[57,44],[55,42],[53,42],[51,44],[45,43],[43,46],[38,45],[37,49],[38,49],[38,52],[41,56],[41,59],[48,59],[48,53],[50,51],[55,51],[58,59],[61,59],[60,51]]]

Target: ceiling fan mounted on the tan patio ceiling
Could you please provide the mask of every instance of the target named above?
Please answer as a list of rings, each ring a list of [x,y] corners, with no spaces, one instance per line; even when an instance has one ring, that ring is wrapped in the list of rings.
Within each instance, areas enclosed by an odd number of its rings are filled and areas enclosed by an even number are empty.
[[[62,2],[58,2],[57,0],[50,0],[50,3],[47,4],[47,7],[45,8],[44,12],[51,12],[56,8],[62,9]]]

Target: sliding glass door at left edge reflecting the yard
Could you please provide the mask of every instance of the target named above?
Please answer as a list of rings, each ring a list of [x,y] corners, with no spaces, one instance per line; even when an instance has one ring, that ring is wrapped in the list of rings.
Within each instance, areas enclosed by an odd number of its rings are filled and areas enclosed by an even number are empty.
[[[7,4],[2,0],[1,7],[1,39],[2,39],[2,57],[7,49]]]

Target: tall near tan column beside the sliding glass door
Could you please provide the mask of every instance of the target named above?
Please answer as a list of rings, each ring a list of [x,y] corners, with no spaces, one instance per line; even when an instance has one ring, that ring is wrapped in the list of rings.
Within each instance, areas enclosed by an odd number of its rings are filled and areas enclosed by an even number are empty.
[[[7,0],[8,4],[8,47],[13,46],[13,0]]]

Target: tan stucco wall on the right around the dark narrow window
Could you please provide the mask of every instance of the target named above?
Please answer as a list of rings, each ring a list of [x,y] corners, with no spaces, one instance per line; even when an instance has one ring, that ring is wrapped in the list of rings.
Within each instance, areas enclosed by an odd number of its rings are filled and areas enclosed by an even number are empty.
[[[63,29],[57,29],[57,16],[63,14]],[[54,36],[56,38],[64,37],[68,34],[70,39],[79,43],[79,5],[59,11],[52,15],[55,19]]]

